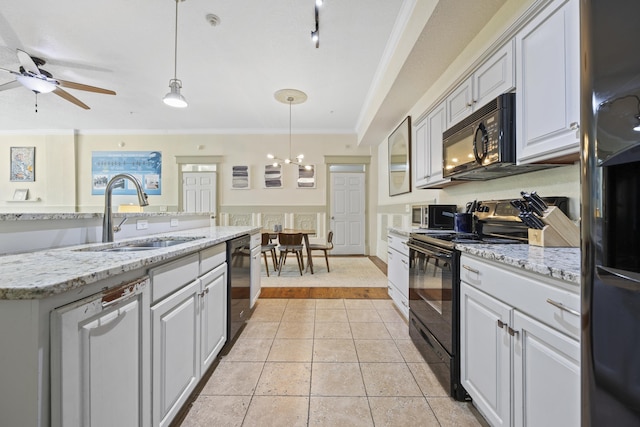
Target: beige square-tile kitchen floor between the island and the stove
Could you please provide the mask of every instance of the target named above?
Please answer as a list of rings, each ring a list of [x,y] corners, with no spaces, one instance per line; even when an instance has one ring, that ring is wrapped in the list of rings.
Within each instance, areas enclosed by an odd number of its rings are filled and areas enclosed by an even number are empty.
[[[486,426],[391,300],[260,299],[182,426]]]

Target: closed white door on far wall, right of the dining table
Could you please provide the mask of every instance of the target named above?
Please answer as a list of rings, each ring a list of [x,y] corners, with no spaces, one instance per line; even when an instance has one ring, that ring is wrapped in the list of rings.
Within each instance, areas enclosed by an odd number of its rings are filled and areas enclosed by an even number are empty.
[[[333,253],[364,255],[364,173],[331,174]]]

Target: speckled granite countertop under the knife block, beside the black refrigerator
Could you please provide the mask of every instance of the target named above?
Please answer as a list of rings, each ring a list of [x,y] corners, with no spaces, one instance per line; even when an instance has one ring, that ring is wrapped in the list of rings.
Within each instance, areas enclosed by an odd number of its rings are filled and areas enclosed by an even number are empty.
[[[543,248],[527,244],[456,244],[456,249],[480,258],[580,285],[580,248]]]

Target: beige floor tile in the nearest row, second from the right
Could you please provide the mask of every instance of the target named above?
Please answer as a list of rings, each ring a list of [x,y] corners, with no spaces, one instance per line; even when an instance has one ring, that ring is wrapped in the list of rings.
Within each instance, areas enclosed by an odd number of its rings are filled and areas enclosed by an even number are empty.
[[[369,397],[376,427],[439,427],[424,397]]]

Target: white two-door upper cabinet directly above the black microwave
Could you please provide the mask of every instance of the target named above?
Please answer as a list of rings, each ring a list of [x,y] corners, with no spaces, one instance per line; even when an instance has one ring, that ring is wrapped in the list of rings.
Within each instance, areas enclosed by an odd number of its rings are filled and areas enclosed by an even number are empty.
[[[509,41],[447,97],[446,128],[514,87],[513,41]]]

